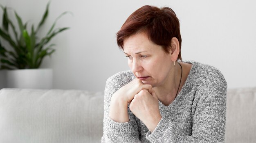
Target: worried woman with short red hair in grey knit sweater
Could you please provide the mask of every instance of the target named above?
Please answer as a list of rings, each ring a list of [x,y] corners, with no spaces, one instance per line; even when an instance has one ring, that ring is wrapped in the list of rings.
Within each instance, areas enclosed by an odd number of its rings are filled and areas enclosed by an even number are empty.
[[[227,83],[215,67],[183,62],[168,7],[142,6],[117,32],[130,71],[108,78],[103,143],[224,142]]]

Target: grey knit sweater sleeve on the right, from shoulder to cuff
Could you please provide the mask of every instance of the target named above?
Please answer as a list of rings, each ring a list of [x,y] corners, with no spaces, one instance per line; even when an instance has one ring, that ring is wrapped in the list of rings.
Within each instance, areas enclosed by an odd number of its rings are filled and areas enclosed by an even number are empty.
[[[223,80],[208,88],[211,90],[199,93],[191,121],[192,135],[180,132],[163,116],[155,130],[148,131],[146,139],[151,143],[224,143],[227,83]]]

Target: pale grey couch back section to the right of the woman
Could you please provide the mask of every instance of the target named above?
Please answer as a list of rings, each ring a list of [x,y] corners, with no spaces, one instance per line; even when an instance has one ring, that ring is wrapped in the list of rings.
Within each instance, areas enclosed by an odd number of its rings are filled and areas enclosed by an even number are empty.
[[[227,91],[226,143],[255,143],[256,88]]]

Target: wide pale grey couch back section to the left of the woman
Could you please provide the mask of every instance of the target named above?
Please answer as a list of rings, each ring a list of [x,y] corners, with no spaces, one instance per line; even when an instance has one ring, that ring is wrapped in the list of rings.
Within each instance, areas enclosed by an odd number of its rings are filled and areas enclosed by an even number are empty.
[[[103,94],[0,90],[0,143],[99,143]]]

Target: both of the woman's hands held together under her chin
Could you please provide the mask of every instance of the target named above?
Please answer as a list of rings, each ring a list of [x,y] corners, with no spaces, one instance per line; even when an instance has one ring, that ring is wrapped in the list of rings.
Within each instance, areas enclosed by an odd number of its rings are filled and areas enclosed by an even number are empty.
[[[128,104],[130,111],[153,132],[162,116],[159,111],[158,98],[151,85],[145,85],[135,78],[121,87],[110,102],[109,116],[116,122],[128,122]]]

